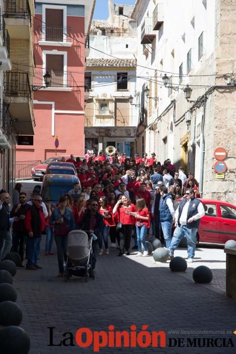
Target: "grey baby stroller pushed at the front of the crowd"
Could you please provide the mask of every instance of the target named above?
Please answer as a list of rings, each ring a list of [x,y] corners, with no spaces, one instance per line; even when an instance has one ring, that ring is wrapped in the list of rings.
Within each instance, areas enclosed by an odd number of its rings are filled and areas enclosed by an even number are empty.
[[[90,275],[95,279],[95,271],[91,269],[92,237],[85,231],[73,230],[68,234],[67,261],[65,267],[65,282],[74,275],[85,277],[88,281]]]

